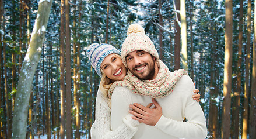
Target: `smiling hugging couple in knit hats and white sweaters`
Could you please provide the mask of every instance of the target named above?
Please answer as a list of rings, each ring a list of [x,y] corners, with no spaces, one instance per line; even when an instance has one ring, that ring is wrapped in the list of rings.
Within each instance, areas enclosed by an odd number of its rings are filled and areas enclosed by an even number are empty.
[[[121,52],[97,43],[87,49],[101,77],[91,137],[206,138],[199,90],[187,71],[170,72],[140,25],[129,25],[127,35]]]

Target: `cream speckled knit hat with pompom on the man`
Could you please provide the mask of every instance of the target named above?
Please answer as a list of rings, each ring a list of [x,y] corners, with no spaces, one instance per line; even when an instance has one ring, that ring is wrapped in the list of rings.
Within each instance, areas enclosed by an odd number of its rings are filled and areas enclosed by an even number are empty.
[[[125,57],[127,56],[127,54],[134,52],[135,50],[143,50],[145,52],[148,52],[152,54],[152,56],[156,57],[156,60],[159,60],[159,56],[154,43],[145,34],[145,31],[141,27],[141,25],[129,25],[127,35],[128,36],[125,39],[124,43],[122,43],[121,49],[122,63],[124,63],[125,67],[127,67]]]

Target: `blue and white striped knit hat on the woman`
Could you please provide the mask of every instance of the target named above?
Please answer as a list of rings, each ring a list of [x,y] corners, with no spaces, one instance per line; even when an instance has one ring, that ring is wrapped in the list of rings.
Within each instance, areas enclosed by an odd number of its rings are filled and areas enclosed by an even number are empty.
[[[121,56],[120,50],[117,50],[114,46],[105,43],[101,43],[100,45],[98,43],[93,43],[88,47],[86,55],[89,58],[92,67],[100,77],[102,76],[100,71],[100,65],[102,61],[109,54],[113,53],[119,54]]]

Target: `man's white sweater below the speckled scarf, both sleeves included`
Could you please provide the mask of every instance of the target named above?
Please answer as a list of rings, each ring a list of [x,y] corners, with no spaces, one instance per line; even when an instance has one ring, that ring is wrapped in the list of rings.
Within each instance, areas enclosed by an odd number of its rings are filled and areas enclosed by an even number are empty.
[[[192,99],[195,86],[189,76],[183,75],[169,96],[157,99],[162,107],[163,116],[155,126],[143,123],[132,138],[206,138],[207,129],[204,113],[197,101]],[[152,98],[134,94],[131,90],[117,86],[112,94],[111,127],[120,129],[122,118],[128,115],[129,104],[148,105]],[[184,117],[188,119],[183,122]],[[127,123],[128,124],[128,123]],[[125,138],[121,137],[120,138]]]

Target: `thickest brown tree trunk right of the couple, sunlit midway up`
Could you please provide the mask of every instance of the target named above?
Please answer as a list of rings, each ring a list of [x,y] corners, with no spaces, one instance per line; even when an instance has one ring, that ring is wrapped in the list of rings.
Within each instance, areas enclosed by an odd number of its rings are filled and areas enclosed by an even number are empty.
[[[223,83],[223,119],[222,138],[230,137],[230,105],[231,105],[231,85],[232,85],[232,35],[233,35],[233,11],[232,0],[226,0],[226,29],[225,29],[225,63],[224,63],[224,83]]]

